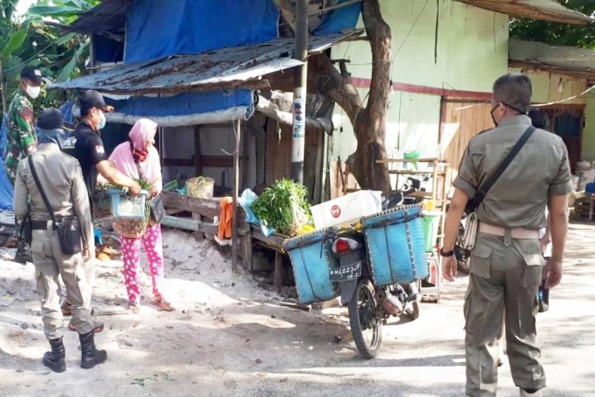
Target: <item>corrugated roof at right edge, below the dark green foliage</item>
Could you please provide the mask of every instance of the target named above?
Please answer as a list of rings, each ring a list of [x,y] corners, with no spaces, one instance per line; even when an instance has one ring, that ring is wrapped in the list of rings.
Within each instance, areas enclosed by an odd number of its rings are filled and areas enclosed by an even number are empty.
[[[585,78],[595,77],[595,51],[592,49],[511,39],[508,58],[514,67],[559,71]]]

